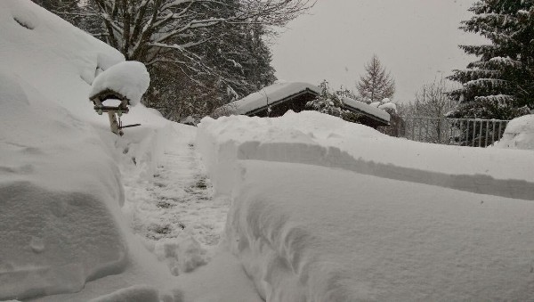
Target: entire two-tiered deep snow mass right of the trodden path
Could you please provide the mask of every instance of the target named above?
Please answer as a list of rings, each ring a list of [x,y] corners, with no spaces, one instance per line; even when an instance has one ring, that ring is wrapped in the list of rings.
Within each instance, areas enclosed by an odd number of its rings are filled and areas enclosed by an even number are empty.
[[[232,197],[231,250],[269,301],[534,290],[530,152],[409,142],[314,111],[205,118],[197,142]]]

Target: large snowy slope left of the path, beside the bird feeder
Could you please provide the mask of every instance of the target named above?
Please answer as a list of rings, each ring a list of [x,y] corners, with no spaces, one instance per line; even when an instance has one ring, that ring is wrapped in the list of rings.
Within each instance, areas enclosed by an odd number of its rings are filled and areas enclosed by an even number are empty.
[[[165,140],[147,136],[166,121],[138,106],[128,118],[150,119],[153,129],[118,142],[87,98],[95,76],[123,55],[28,0],[0,1],[0,28],[0,299],[76,292],[134,267],[158,270],[127,233],[117,163],[124,145],[125,156],[157,165]]]

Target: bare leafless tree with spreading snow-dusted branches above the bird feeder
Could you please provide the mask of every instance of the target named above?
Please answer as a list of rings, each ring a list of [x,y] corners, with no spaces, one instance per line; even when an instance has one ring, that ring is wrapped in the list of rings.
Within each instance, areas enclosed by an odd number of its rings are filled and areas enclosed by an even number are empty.
[[[127,60],[208,69],[190,49],[219,38],[221,24],[284,26],[312,0],[89,0],[109,45]],[[87,13],[87,12],[85,12]]]

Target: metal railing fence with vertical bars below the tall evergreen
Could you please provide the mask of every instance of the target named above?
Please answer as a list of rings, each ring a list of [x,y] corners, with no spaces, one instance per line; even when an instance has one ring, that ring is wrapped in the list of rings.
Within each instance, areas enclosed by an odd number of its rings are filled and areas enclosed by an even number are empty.
[[[424,143],[487,147],[505,132],[508,120],[405,117],[404,136]]]

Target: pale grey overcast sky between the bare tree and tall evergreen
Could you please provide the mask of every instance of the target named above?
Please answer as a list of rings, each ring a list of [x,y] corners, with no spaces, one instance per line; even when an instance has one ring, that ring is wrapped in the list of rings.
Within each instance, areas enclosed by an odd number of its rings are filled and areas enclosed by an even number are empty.
[[[272,45],[277,77],[355,90],[376,53],[396,82],[394,101],[413,99],[425,83],[473,57],[457,45],[483,40],[458,29],[474,0],[319,0]]]

